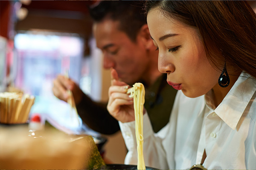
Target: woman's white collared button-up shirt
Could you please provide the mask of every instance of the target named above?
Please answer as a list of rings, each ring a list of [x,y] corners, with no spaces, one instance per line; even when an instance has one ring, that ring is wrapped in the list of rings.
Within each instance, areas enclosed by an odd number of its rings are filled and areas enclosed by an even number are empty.
[[[211,91],[188,98],[178,91],[169,123],[158,133],[143,117],[145,165],[189,169],[200,164],[206,150],[207,169],[256,169],[256,79],[242,73],[214,108]],[[135,122],[119,122],[128,154],[137,164]]]

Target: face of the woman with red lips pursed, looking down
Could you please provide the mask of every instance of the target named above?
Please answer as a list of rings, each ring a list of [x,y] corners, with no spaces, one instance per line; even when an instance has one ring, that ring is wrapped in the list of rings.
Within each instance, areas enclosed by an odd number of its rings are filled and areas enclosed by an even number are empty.
[[[159,49],[158,69],[167,73],[167,82],[188,97],[206,94],[218,83],[221,71],[207,60],[198,30],[189,27],[160,10],[148,12],[148,27]]]

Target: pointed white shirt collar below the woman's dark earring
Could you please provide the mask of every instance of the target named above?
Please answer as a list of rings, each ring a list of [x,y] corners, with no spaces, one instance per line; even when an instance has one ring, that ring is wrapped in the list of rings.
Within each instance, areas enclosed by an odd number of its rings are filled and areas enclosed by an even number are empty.
[[[215,109],[215,113],[233,130],[256,91],[256,79],[241,73],[233,87]]]

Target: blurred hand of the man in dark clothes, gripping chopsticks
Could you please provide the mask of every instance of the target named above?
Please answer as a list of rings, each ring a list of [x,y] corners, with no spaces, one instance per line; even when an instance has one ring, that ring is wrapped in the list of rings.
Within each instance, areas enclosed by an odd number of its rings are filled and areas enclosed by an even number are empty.
[[[72,79],[69,79],[64,75],[58,75],[57,78],[53,80],[52,92],[54,96],[67,102],[69,97],[67,90],[72,91],[75,103],[78,104],[84,95],[83,91],[81,91],[79,86]]]

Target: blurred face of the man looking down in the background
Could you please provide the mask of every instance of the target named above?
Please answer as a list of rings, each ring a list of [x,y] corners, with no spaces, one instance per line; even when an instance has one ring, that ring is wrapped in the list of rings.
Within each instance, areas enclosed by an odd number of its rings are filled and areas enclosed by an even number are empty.
[[[131,85],[143,77],[149,59],[140,36],[132,42],[125,32],[118,29],[118,24],[113,20],[94,23],[93,34],[103,53],[103,67],[114,68],[119,78]]]

